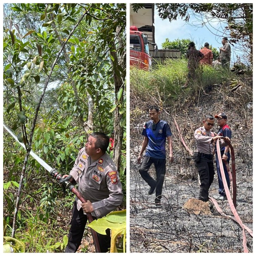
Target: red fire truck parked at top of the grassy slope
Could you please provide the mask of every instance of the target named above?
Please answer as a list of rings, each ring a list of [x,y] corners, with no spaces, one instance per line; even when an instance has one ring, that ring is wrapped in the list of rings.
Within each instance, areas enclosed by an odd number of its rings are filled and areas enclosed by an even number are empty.
[[[157,51],[157,44],[150,43],[147,35],[139,31],[136,26],[130,27],[130,66],[136,66],[139,69],[150,70],[152,57],[148,44],[154,46],[154,52]]]

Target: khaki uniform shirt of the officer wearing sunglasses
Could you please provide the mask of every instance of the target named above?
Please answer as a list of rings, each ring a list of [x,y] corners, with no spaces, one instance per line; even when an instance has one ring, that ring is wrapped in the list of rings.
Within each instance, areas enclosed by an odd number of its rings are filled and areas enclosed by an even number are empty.
[[[206,131],[204,127],[199,127],[195,130],[194,137],[196,139],[197,151],[212,155],[215,147],[215,142],[211,143],[212,138],[216,136],[212,130]],[[226,146],[227,143],[224,140],[219,140],[219,146]]]

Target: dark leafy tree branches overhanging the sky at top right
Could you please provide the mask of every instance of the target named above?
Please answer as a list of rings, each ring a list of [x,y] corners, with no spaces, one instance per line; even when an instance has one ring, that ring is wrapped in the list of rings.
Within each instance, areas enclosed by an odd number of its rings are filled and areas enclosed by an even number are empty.
[[[199,21],[197,26],[208,26],[212,33],[228,37],[232,44],[239,44],[252,64],[253,53],[253,4],[252,3],[156,3],[158,15],[162,19],[176,20],[181,17],[189,22],[193,15]],[[143,4],[132,4],[137,11]],[[211,27],[211,22],[219,22],[219,28]],[[222,24],[225,23],[225,27]]]

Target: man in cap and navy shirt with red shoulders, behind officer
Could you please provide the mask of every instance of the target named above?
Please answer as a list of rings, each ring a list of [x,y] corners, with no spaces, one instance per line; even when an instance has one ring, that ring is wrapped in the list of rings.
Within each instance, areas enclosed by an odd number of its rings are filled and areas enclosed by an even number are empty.
[[[227,125],[227,115],[225,113],[219,113],[214,116],[217,119],[217,124],[219,126],[219,130],[217,132],[218,136],[222,137],[228,137],[231,139],[231,130],[229,126]],[[221,168],[219,167],[219,159],[217,155],[217,148],[215,146],[215,154],[216,154],[216,167],[217,167],[217,174],[218,174],[218,183],[219,183],[219,195],[218,196],[213,196],[216,200],[223,201],[227,200],[223,181],[222,181],[222,176],[221,176]],[[221,156],[222,156],[222,163],[223,163],[223,168],[224,168],[224,173],[226,177],[226,181],[228,184],[228,189],[230,188],[230,179],[229,179],[229,173],[227,170],[227,167],[225,165],[225,161],[229,163],[230,159],[230,153],[229,153],[229,146],[226,147],[221,147]]]

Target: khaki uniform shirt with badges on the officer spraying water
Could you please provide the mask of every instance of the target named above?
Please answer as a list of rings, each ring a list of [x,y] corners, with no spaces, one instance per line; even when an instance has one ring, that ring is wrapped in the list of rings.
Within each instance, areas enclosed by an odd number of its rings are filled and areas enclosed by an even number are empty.
[[[91,214],[93,216],[103,217],[123,202],[119,174],[108,154],[105,153],[93,162],[91,157],[85,153],[85,148],[82,148],[70,175],[79,185],[78,191],[92,203],[94,212]],[[75,200],[79,211],[82,202],[77,197]]]

